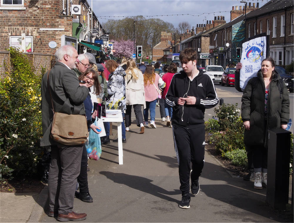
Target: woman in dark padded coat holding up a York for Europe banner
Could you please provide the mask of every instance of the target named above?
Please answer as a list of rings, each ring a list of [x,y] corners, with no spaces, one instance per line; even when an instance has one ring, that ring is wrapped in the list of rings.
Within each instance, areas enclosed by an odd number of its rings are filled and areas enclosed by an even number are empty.
[[[236,71],[241,68],[242,63],[238,63]],[[241,117],[246,149],[253,152],[254,188],[262,189],[262,183],[267,184],[267,132],[286,129],[290,117],[288,89],[275,71],[272,58],[265,58],[257,77],[248,81],[242,96]]]

